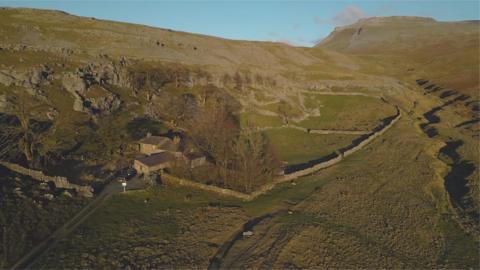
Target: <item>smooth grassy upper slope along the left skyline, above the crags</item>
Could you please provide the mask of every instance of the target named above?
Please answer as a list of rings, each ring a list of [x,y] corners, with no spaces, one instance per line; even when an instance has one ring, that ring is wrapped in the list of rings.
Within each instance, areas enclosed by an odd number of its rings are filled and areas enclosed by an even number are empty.
[[[217,69],[269,66],[286,70],[285,63],[292,68],[316,61],[306,49],[281,43],[231,41],[57,11],[4,8],[0,14],[0,43],[5,44],[66,48],[79,54],[148,58]]]

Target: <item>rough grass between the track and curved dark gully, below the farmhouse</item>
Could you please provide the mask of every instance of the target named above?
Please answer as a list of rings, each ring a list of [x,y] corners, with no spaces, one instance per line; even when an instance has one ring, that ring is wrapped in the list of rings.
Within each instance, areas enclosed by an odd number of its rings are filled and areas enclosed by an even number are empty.
[[[219,202],[182,188],[117,195],[38,266],[206,268],[218,245],[246,219],[242,209],[215,206]]]

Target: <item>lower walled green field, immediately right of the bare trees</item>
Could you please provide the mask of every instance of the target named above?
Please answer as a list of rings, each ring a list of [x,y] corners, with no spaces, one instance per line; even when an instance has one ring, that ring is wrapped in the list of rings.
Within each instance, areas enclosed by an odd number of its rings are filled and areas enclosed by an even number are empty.
[[[326,156],[349,145],[358,135],[309,134],[294,128],[270,129],[265,134],[280,159],[289,164],[303,163]]]

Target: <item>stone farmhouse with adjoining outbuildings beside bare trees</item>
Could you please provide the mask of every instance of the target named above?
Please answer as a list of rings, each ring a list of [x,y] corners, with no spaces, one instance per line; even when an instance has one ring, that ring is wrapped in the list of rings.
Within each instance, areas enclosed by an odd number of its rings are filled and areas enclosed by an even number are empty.
[[[134,160],[133,168],[139,174],[149,175],[171,168],[178,161],[185,162],[190,168],[206,163],[204,155],[193,151],[184,153],[182,148],[182,141],[178,136],[170,139],[166,136],[147,135],[139,142],[139,150],[143,156]]]

